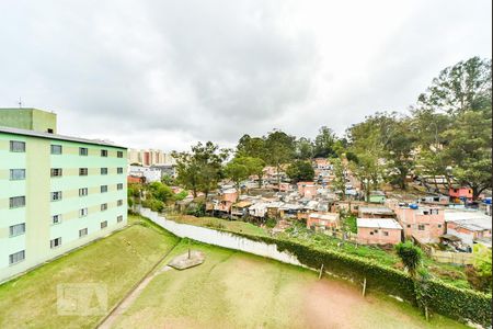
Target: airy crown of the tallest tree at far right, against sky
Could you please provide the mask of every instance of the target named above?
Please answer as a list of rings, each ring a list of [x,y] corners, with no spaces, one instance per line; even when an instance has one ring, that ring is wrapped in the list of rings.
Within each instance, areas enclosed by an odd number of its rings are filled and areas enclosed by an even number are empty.
[[[491,109],[491,59],[472,57],[445,68],[425,93],[419,106],[459,114],[463,111]]]

